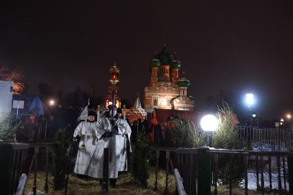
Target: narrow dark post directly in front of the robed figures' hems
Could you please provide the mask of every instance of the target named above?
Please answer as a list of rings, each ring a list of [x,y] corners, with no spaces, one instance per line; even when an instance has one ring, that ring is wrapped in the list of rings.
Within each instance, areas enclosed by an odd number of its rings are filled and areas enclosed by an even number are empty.
[[[102,195],[109,194],[109,162],[110,149],[104,148],[103,153],[103,181],[102,181]]]

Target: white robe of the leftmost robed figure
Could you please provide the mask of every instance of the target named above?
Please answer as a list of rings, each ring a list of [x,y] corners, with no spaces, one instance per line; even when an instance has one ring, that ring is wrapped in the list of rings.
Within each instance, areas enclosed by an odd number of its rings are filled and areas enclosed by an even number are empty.
[[[77,152],[77,161],[75,162],[74,173],[88,175],[88,168],[90,166],[90,159],[94,154],[96,148],[96,123],[90,123],[83,121],[79,123],[74,130],[74,137],[79,133],[83,134],[83,138],[79,141],[79,151]],[[85,149],[82,149],[81,145],[85,144]]]

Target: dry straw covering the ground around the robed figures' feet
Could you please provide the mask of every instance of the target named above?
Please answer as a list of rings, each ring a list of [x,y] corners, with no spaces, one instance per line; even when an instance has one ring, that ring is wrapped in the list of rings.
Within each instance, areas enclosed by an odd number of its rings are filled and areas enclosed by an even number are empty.
[[[165,172],[163,170],[159,171],[158,174],[158,190],[154,192],[154,169],[151,169],[150,178],[148,180],[148,189],[143,189],[137,181],[132,178],[130,173],[123,173],[119,176],[117,180],[117,187],[110,187],[110,194],[163,194],[165,190]],[[28,183],[26,185],[26,194],[32,191],[34,177],[30,174],[28,178]],[[175,181],[174,177],[170,174],[168,178],[169,192],[170,194],[175,193]],[[45,172],[38,172],[37,175],[37,189],[43,192],[43,187],[45,185]],[[54,191],[53,190],[53,177],[49,174],[48,177],[49,192],[48,194],[61,195],[64,191]],[[101,194],[101,185],[99,181],[85,181],[75,176],[70,176],[68,185],[68,195],[94,195]]]

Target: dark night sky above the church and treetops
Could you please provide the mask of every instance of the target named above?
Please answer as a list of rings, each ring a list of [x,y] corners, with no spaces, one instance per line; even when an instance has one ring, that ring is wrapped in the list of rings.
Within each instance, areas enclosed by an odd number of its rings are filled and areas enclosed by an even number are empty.
[[[262,116],[293,111],[293,1],[7,1],[0,63],[21,66],[36,92],[94,85],[105,95],[113,61],[121,97],[134,101],[163,44],[192,85],[199,107],[219,90],[252,91]],[[182,71],[181,71],[182,72]]]

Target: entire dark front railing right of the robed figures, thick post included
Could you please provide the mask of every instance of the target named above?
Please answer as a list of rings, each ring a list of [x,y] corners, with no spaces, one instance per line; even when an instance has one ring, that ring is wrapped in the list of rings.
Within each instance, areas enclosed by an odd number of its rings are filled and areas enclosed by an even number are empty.
[[[156,152],[154,189],[157,189],[159,156],[162,152],[166,153],[165,193],[168,193],[168,174],[169,166],[171,166],[177,191],[181,191],[179,194],[185,192],[186,194],[210,194],[211,186],[214,186],[213,194],[218,194],[218,187],[223,182],[219,177],[219,170],[223,170],[223,161],[225,161],[224,165],[229,167],[227,170],[229,194],[233,192],[234,172],[232,167],[234,166],[242,168],[240,172],[243,174],[241,177],[243,185],[239,187],[243,188],[243,194],[248,194],[248,184],[253,185],[254,183],[256,183],[255,190],[261,194],[264,194],[265,191],[272,192],[274,189],[279,194],[292,193],[293,153],[291,152],[216,150],[208,147],[152,147],[152,150]],[[176,161],[170,158],[171,152],[176,154]],[[241,165],[234,164],[236,157],[241,159]],[[184,189],[179,189],[179,186],[182,185]],[[288,191],[288,189],[290,190]]]

